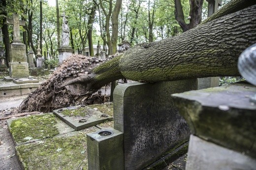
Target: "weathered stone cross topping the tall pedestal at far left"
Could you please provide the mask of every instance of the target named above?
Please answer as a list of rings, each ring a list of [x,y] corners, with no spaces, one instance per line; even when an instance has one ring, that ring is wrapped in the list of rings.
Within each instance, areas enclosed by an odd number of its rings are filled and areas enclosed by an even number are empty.
[[[12,19],[6,19],[6,24],[13,25],[13,43],[22,43],[20,40],[20,26],[25,26],[25,21],[19,20],[18,14],[13,14]]]

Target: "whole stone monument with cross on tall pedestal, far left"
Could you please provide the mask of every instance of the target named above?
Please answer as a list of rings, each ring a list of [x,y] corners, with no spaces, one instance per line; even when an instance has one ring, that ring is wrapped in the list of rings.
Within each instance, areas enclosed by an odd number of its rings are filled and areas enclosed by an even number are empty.
[[[13,42],[10,44],[9,77],[4,80],[28,78],[29,64],[26,56],[26,45],[20,40],[20,26],[25,26],[25,21],[19,20],[19,15],[13,14],[13,19],[6,20],[7,24],[13,25]]]

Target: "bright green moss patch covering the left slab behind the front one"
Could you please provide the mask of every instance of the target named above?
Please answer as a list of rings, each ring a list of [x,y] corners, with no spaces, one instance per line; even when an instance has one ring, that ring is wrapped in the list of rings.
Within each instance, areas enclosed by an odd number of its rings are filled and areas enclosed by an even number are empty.
[[[59,134],[56,116],[53,114],[31,115],[11,122],[10,132],[16,142],[44,139]]]

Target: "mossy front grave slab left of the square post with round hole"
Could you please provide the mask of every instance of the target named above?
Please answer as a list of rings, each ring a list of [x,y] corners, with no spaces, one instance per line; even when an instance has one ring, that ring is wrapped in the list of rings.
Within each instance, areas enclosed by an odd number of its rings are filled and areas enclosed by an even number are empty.
[[[86,134],[16,147],[25,170],[87,170]]]

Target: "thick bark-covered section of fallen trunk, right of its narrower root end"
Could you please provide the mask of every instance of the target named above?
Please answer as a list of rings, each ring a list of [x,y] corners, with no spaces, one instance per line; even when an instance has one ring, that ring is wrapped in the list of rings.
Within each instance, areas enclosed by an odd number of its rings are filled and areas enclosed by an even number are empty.
[[[239,55],[256,43],[255,15],[251,6],[173,38],[139,44],[120,58],[120,71],[146,82],[239,76]]]

